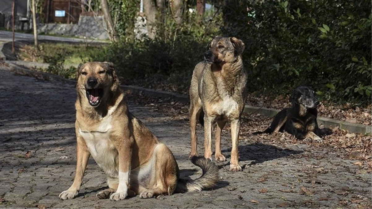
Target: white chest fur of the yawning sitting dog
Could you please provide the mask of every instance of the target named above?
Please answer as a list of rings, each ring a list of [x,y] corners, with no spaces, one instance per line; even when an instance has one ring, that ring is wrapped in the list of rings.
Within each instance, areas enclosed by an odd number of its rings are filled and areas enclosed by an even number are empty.
[[[107,118],[106,118],[107,117]],[[105,173],[112,177],[118,177],[118,151],[110,140],[111,116],[102,118],[95,131],[83,131],[79,134],[84,138],[90,155]]]

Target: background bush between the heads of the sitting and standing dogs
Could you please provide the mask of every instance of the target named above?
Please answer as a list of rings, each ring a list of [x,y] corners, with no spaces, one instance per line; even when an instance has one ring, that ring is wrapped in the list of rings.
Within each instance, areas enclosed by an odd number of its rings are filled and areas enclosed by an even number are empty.
[[[91,60],[115,63],[118,74],[126,80],[146,80],[151,85],[153,79],[163,83],[167,79],[172,90],[185,92],[193,68],[203,59],[209,41],[219,32],[216,24],[221,17],[216,15],[214,20],[200,23],[195,14],[187,16],[182,23],[176,23],[170,13],[163,18],[164,22],[156,25],[155,39],[122,39],[120,43],[91,51]]]

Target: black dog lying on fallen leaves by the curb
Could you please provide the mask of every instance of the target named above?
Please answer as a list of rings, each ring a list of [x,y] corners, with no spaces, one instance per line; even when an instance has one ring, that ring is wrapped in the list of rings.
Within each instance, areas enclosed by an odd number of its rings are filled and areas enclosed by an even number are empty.
[[[292,107],[285,108],[276,114],[269,128],[253,134],[286,131],[296,136],[297,139],[311,139],[321,142],[317,123],[319,100],[315,98],[314,91],[310,87],[300,86],[293,91],[289,102],[292,102]]]

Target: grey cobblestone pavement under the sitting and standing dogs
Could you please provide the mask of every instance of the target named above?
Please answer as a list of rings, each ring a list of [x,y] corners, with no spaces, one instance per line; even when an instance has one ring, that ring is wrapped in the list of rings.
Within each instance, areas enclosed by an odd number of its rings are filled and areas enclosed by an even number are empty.
[[[3,67],[4,68],[4,67]],[[337,153],[307,145],[240,142],[242,172],[220,163],[221,181],[209,191],[111,202],[96,193],[105,176],[91,159],[80,194],[60,200],[73,180],[76,154],[74,86],[0,70],[0,208],[371,208],[371,174]],[[182,177],[201,170],[188,160],[186,119],[129,101],[129,109],[173,151]],[[199,128],[199,138],[202,132]],[[230,135],[222,139],[230,160]],[[199,153],[203,152],[199,142]],[[316,153],[314,153],[316,152]],[[322,156],[322,157],[314,157]]]

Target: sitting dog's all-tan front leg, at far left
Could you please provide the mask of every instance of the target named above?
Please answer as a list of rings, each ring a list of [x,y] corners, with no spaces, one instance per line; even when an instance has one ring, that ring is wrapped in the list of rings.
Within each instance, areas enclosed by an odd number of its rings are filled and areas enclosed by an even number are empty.
[[[77,196],[81,183],[83,181],[83,176],[85,169],[88,164],[89,160],[89,151],[87,150],[87,145],[85,144],[84,139],[77,134],[77,144],[76,144],[76,172],[75,172],[75,179],[73,184],[70,186],[68,190],[61,192],[59,197],[62,200],[65,199],[73,199]]]

